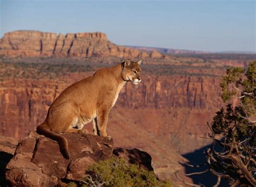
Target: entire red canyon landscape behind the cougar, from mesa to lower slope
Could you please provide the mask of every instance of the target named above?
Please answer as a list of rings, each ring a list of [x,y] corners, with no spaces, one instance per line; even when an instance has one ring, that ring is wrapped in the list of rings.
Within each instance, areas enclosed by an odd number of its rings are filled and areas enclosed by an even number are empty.
[[[111,43],[100,32],[6,33],[0,40],[0,135],[25,137],[73,82],[125,58],[142,58],[143,80],[123,87],[107,133],[114,147],[147,151],[156,173],[173,179],[186,160],[180,155],[211,143],[206,123],[225,106],[219,84],[226,68],[246,67],[254,58],[227,61],[226,56],[207,55],[170,56],[130,49]],[[85,128],[92,134],[91,123]]]

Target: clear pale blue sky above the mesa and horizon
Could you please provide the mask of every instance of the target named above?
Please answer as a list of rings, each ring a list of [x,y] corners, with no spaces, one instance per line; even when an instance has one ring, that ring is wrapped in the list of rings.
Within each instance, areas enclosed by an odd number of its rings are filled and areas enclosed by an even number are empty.
[[[15,30],[101,31],[115,44],[254,51],[255,1],[0,0],[0,37]]]

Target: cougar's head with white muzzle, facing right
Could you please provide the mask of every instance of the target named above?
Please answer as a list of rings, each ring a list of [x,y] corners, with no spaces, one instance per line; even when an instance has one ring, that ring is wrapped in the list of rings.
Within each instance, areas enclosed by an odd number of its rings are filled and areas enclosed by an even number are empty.
[[[131,61],[126,59],[123,63],[123,69],[121,76],[125,81],[131,81],[133,84],[138,84],[142,80],[142,68],[140,68],[140,63],[142,60],[139,61]]]

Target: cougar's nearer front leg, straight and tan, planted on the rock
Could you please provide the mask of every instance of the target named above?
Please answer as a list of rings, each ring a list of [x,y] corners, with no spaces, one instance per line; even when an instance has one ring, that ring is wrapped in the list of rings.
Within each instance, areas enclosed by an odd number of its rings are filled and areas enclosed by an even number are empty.
[[[109,110],[106,109],[99,109],[97,113],[97,127],[99,130],[99,135],[107,137],[111,139],[111,136],[107,136],[106,133],[106,126],[107,126],[107,120],[109,119]]]

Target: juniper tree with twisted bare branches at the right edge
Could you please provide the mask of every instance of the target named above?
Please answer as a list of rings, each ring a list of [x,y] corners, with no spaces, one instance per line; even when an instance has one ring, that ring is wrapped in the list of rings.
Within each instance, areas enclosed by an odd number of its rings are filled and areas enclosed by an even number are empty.
[[[208,169],[218,177],[226,178],[232,186],[256,186],[256,60],[247,70],[228,68],[220,83],[221,98],[230,102],[213,117],[208,136],[213,140],[206,150]],[[233,102],[234,100],[239,102]],[[233,102],[233,105],[232,105]],[[197,166],[199,167],[199,166]],[[193,174],[188,174],[193,175]]]

